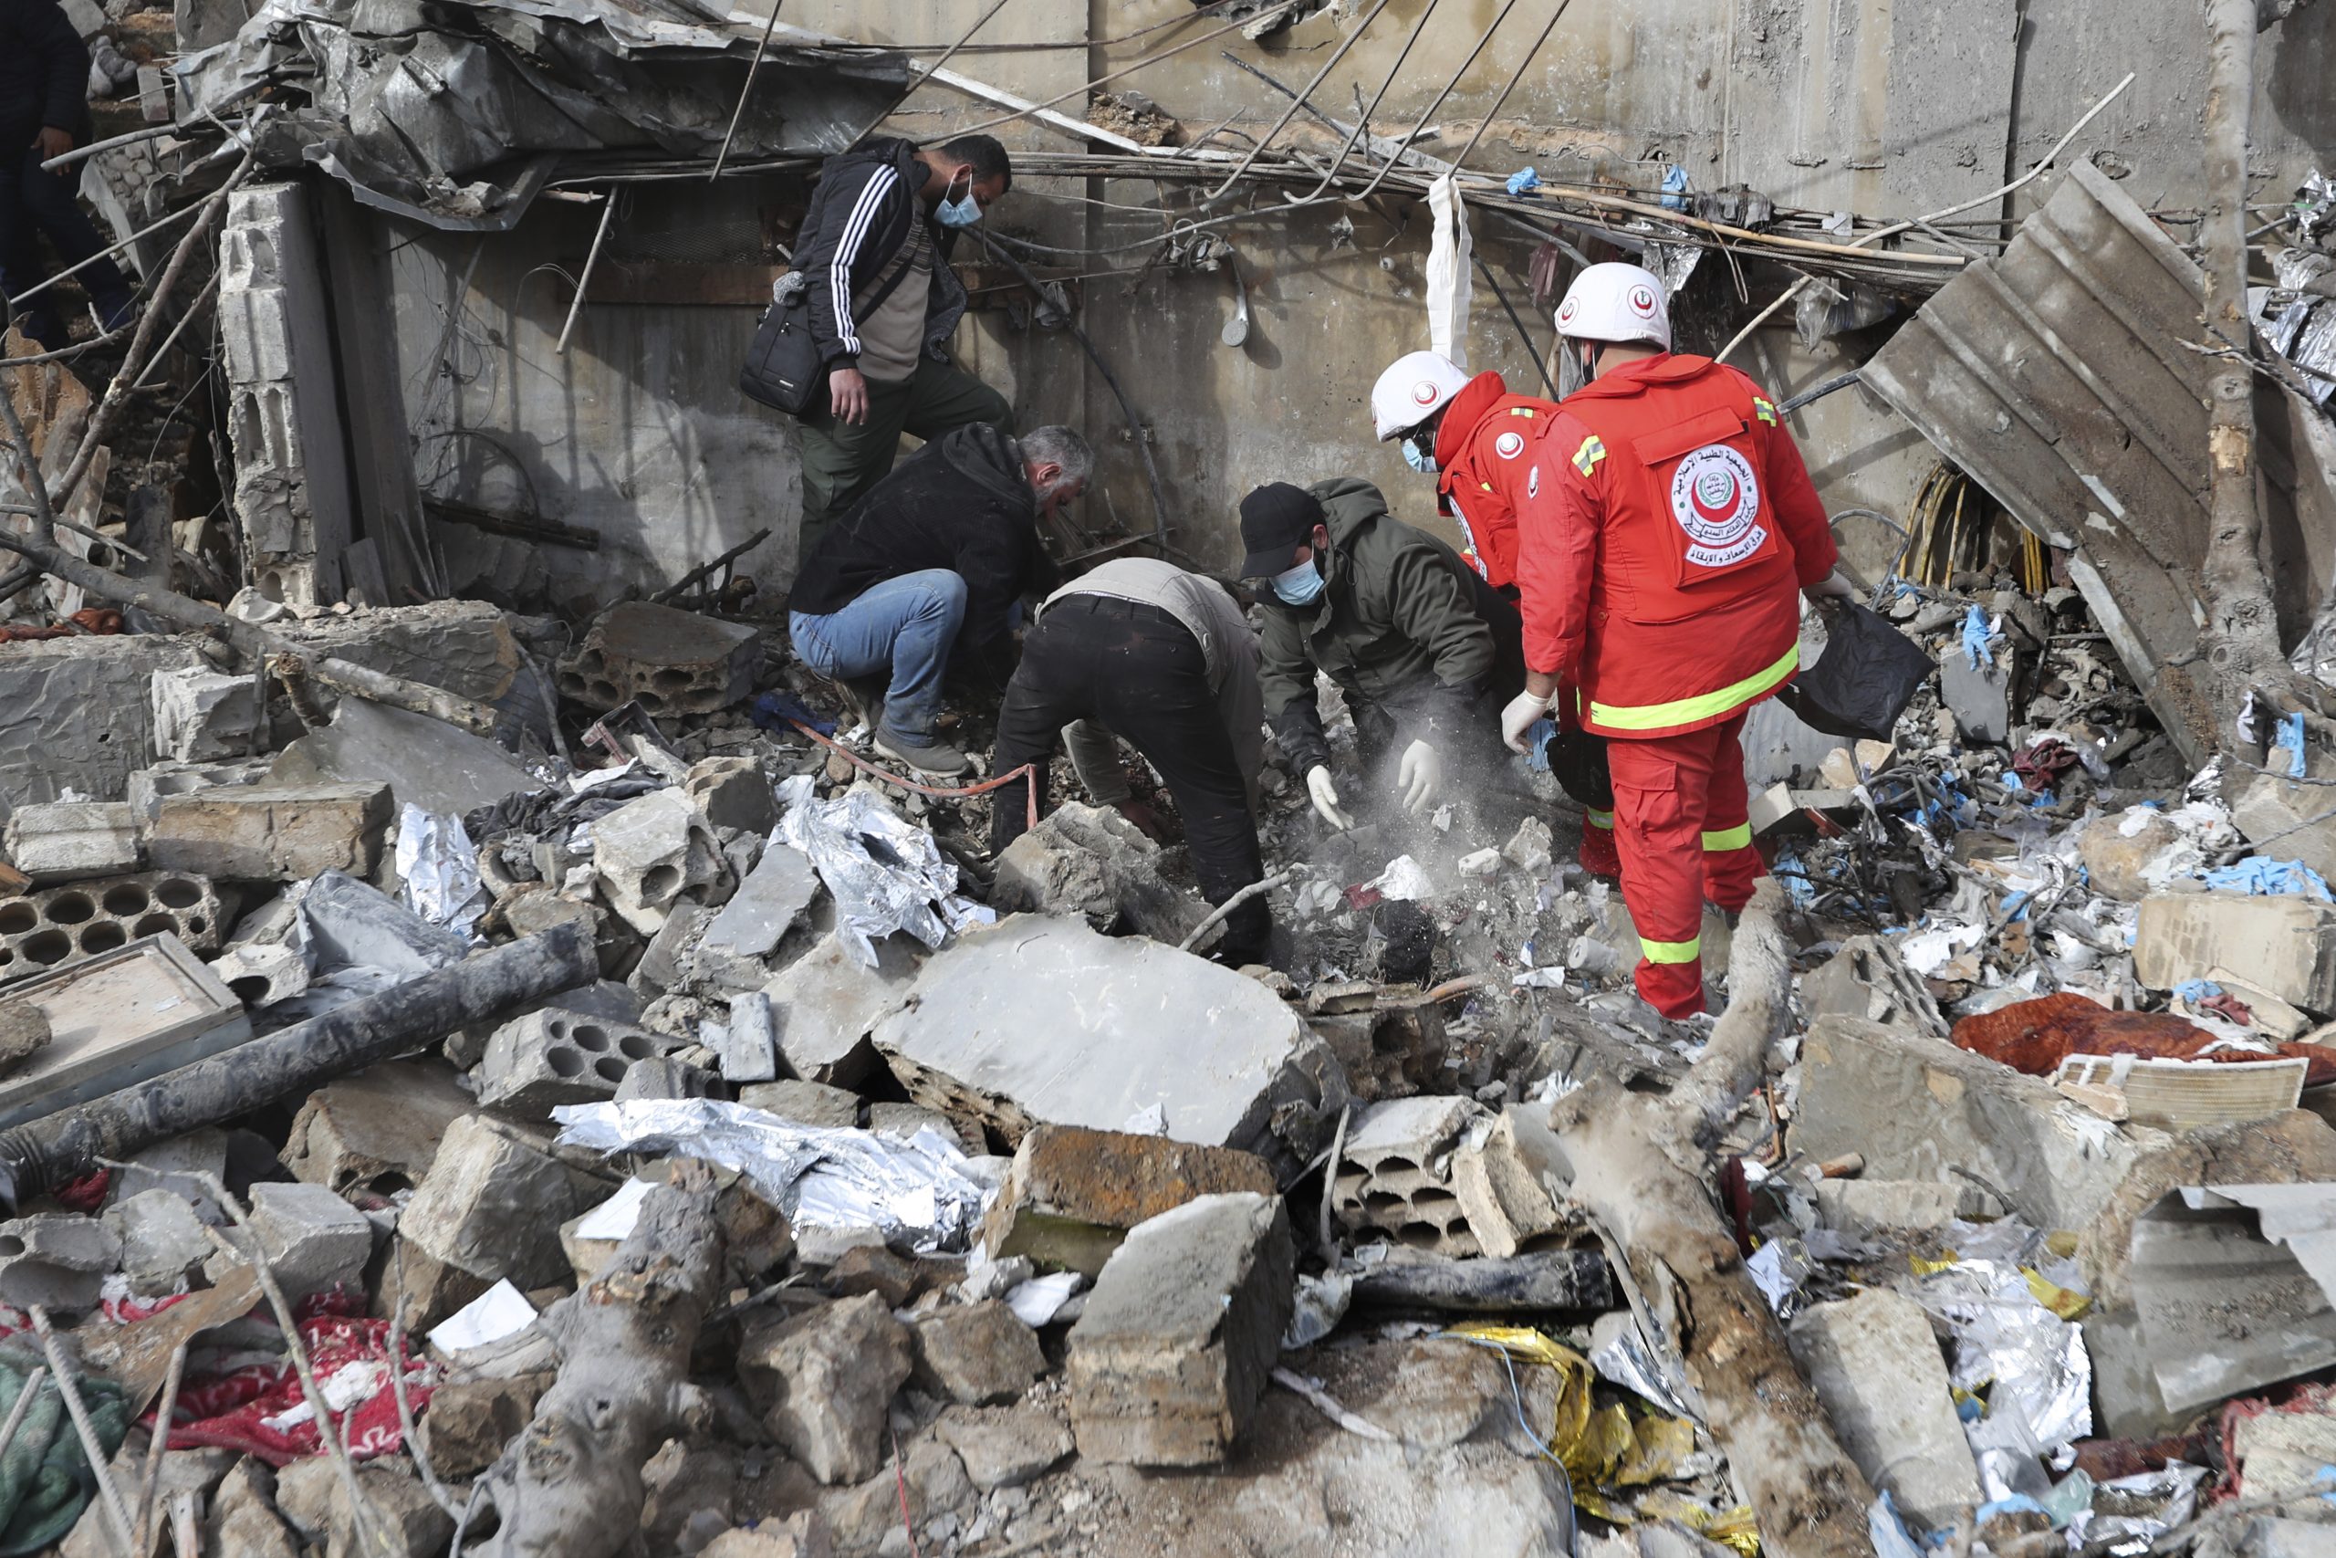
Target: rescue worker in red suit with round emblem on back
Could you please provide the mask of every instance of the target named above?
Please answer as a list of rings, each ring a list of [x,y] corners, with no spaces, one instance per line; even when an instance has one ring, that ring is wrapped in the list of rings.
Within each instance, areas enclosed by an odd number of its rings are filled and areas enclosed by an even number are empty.
[[[1670,353],[1663,283],[1595,264],[1558,304],[1581,390],[1518,453],[1525,691],[1502,738],[1567,689],[1560,719],[1607,738],[1638,993],[1703,1011],[1703,904],[1733,913],[1761,871],[1745,712],[1792,680],[1801,593],[1848,596],[1834,535],[1775,404],[1710,357]]]

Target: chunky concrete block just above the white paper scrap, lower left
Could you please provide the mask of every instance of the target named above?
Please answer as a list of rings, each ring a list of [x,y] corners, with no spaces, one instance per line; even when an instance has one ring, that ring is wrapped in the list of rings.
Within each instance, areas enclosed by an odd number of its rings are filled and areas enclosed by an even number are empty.
[[[558,1159],[465,1114],[446,1128],[397,1231],[474,1278],[535,1289],[568,1273],[558,1226],[582,1210]]]

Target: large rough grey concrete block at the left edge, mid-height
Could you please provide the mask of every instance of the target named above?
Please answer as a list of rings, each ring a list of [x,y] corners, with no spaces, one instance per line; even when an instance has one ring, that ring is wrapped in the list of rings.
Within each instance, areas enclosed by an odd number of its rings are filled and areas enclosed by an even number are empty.
[[[119,801],[154,761],[157,670],[203,666],[189,640],[112,633],[0,654],[0,818],[72,794]]]

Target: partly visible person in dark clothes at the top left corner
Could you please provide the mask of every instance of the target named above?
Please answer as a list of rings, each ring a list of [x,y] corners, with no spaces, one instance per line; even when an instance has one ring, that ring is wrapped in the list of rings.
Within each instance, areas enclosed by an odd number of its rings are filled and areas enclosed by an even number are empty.
[[[89,140],[89,47],[56,0],[0,0],[0,287],[23,297],[42,280],[40,238],[75,266],[105,241],[72,199],[75,173],[40,164]],[[131,283],[112,259],[77,271],[112,329],[131,318]],[[49,350],[70,343],[65,322],[42,292],[16,315],[16,329]]]

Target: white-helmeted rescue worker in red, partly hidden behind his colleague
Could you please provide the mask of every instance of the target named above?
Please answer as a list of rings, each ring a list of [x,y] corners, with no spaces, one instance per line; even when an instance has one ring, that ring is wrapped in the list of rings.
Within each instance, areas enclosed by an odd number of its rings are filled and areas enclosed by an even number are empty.
[[[1467,563],[1516,600],[1516,512],[1525,502],[1523,451],[1549,430],[1556,402],[1509,395],[1500,374],[1474,378],[1441,353],[1404,353],[1371,385],[1378,441],[1402,439],[1404,462],[1437,479],[1439,512],[1467,537]],[[1581,869],[1621,876],[1614,853],[1614,794],[1602,743],[1567,733],[1551,766],[1581,801]]]

